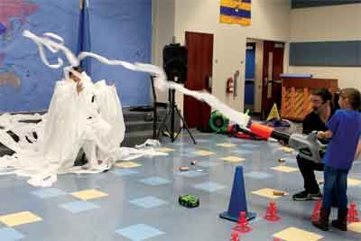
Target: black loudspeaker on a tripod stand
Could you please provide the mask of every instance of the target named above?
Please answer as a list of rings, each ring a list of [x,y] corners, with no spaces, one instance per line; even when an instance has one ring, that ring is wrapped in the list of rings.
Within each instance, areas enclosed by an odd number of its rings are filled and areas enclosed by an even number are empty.
[[[187,48],[177,44],[166,45],[163,49],[163,68],[167,79],[185,83],[187,80]]]

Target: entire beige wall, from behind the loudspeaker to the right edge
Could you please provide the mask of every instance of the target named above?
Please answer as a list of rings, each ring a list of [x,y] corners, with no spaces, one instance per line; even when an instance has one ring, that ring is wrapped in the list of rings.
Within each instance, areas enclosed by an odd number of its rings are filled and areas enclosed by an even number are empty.
[[[244,105],[246,38],[280,42],[361,40],[361,5],[291,10],[289,0],[253,0],[251,26],[219,23],[218,18],[218,0],[153,0],[153,63],[162,66],[162,48],[173,35],[184,44],[186,31],[213,33],[213,94],[237,110],[243,110]],[[286,44],[284,72],[336,78],[341,88],[361,88],[361,68],[292,67],[288,54]],[[234,99],[226,94],[226,80],[236,70],[242,81]],[[158,97],[167,100],[166,93],[158,93]],[[260,108],[257,102],[256,109]],[[177,103],[182,108],[183,97],[179,93]]]

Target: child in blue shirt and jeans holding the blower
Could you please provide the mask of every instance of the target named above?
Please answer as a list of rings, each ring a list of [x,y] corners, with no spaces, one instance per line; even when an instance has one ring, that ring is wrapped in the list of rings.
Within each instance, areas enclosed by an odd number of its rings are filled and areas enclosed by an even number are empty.
[[[329,230],[333,188],[338,195],[338,219],[333,220],[331,224],[342,231],[347,231],[347,174],[361,148],[360,92],[356,88],[342,89],[338,104],[341,109],[336,111],[326,124],[329,131],[318,133],[320,139],[331,138],[323,158],[325,182],[322,209],[319,220],[313,222],[315,227],[324,231]]]

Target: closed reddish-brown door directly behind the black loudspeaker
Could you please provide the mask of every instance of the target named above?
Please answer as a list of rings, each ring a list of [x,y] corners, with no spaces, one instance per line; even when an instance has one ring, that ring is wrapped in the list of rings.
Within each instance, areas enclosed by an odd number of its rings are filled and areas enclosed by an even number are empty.
[[[186,32],[188,73],[185,87],[211,92],[213,34]],[[184,117],[190,127],[208,130],[211,108],[203,102],[184,96]]]

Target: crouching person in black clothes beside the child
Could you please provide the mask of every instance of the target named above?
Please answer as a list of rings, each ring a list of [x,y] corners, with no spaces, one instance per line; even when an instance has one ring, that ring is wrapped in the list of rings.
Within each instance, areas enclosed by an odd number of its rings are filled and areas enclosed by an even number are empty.
[[[314,89],[310,95],[312,112],[303,120],[303,134],[310,134],[312,131],[327,131],[326,123],[333,115],[332,95],[327,88]],[[297,156],[303,182],[304,190],[292,196],[293,200],[320,199],[319,184],[316,181],[315,171],[323,171],[324,164],[310,162],[307,159]]]

